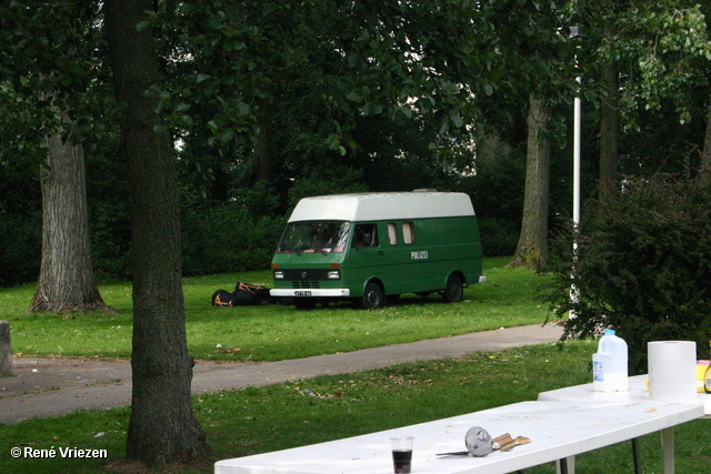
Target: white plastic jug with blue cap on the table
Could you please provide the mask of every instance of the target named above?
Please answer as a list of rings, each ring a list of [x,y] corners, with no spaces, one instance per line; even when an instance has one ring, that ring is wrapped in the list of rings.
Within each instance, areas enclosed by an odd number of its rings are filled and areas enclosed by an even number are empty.
[[[627,343],[604,330],[598,343],[598,352],[592,354],[592,389],[595,392],[625,392],[628,389]]]

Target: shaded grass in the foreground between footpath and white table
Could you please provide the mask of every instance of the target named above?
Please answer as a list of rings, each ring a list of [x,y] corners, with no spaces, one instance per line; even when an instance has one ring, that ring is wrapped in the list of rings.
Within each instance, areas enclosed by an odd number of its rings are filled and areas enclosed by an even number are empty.
[[[209,462],[187,473],[212,472],[221,458],[420,423],[527,400],[538,393],[590,380],[594,342],[562,347],[542,344],[495,353],[418,362],[383,370],[320,376],[266,387],[193,397],[198,418],[214,450]],[[121,464],[129,409],[87,411],[48,420],[0,426],[3,474],[134,472]],[[677,473],[711,472],[709,421],[675,430]],[[533,440],[535,442],[535,440]],[[660,436],[640,440],[647,474],[661,473]],[[12,460],[9,450],[77,447],[106,450],[108,460]],[[160,472],[174,472],[169,468]],[[527,474],[553,474],[545,464]],[[631,444],[621,443],[577,458],[579,474],[632,473]]]

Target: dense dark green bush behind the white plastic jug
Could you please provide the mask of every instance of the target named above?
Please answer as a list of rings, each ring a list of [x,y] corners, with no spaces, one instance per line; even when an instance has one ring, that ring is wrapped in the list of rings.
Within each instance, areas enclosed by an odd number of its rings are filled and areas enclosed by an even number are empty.
[[[703,175],[629,179],[613,202],[583,212],[574,266],[572,226],[553,240],[547,297],[558,316],[577,314],[563,323],[565,337],[614,329],[629,345],[631,373],[647,371],[650,341],[695,341],[698,356],[710,356],[710,188]]]

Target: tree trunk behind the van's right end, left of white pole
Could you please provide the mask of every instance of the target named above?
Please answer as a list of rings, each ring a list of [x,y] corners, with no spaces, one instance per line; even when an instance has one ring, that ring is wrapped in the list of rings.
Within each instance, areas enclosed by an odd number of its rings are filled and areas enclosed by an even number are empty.
[[[509,266],[539,270],[548,259],[548,203],[550,188],[551,142],[548,123],[551,109],[531,97],[528,117],[528,151],[521,235]]]

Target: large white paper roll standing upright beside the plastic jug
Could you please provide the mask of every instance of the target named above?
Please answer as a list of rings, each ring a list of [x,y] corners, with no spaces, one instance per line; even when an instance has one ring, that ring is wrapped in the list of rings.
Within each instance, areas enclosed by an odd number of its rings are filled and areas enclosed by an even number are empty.
[[[697,400],[697,343],[655,341],[647,344],[649,397]]]

